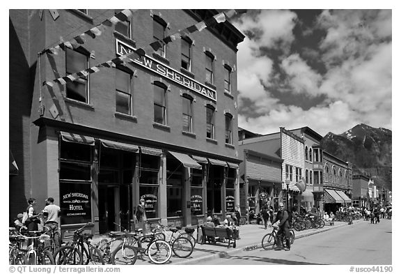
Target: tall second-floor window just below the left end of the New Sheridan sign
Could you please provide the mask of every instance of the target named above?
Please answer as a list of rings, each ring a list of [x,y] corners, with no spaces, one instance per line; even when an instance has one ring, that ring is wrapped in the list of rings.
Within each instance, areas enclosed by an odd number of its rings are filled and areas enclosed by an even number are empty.
[[[132,114],[132,74],[116,70],[116,112]]]

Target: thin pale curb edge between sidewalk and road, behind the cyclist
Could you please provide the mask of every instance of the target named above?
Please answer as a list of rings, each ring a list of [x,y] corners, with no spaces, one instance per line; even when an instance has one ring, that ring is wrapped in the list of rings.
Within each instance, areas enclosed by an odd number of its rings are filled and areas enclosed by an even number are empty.
[[[359,222],[354,222],[354,224],[357,224]],[[315,231],[308,231],[304,234],[300,234],[297,235],[297,238],[304,238],[310,235],[314,235],[314,234],[319,234],[325,231],[329,231],[331,229],[338,229],[340,227],[345,227],[347,226],[347,222],[345,222],[344,224],[340,224],[338,226],[330,226],[327,228],[322,228],[319,230],[315,230]],[[250,243],[248,245],[245,245],[243,248],[235,248],[232,250],[229,250],[227,252],[217,252],[216,254],[211,254],[211,255],[205,255],[203,257],[199,257],[199,258],[194,258],[194,259],[189,259],[189,260],[182,260],[182,261],[176,261],[176,262],[172,262],[171,265],[186,265],[186,264],[198,264],[201,263],[203,261],[210,261],[212,259],[219,259],[219,258],[226,258],[229,255],[241,252],[241,251],[250,251],[250,250],[256,250],[256,249],[260,249],[262,248],[262,244],[259,243]]]

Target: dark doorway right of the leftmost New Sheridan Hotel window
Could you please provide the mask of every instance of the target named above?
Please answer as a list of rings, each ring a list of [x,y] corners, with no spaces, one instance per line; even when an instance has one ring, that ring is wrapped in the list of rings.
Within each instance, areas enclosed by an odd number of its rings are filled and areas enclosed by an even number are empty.
[[[99,233],[119,230],[114,224],[118,223],[120,206],[118,201],[118,187],[113,185],[99,185]]]

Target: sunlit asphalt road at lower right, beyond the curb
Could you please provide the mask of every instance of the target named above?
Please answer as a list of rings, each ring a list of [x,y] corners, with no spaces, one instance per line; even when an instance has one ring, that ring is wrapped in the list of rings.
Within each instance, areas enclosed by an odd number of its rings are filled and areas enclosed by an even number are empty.
[[[290,251],[244,251],[200,264],[391,265],[391,233],[391,220],[363,221],[295,239]]]

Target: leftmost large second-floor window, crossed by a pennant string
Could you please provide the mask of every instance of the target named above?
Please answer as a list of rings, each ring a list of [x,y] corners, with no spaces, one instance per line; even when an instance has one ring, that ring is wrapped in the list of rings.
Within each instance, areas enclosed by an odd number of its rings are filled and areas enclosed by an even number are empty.
[[[89,67],[88,54],[84,54],[81,50],[65,49],[65,73],[67,75],[78,73]],[[74,82],[67,83],[67,98],[81,102],[89,102],[89,75],[81,76]]]

